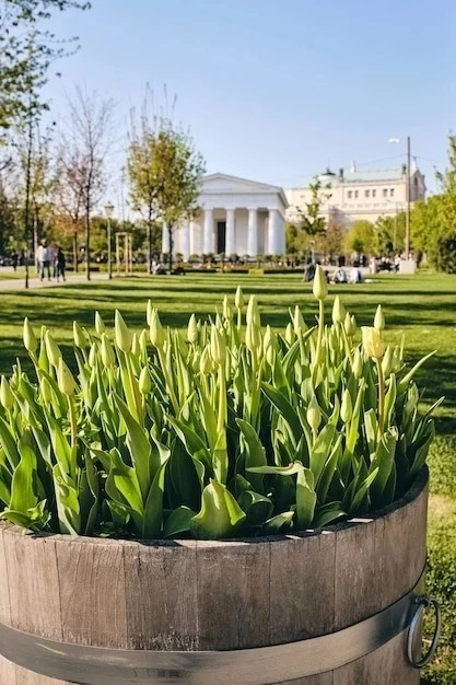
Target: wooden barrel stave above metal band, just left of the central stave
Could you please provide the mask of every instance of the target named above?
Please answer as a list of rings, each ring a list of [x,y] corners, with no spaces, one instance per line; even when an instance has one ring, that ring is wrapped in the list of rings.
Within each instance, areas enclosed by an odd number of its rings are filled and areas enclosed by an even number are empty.
[[[128,649],[198,649],[196,545],[124,547]]]

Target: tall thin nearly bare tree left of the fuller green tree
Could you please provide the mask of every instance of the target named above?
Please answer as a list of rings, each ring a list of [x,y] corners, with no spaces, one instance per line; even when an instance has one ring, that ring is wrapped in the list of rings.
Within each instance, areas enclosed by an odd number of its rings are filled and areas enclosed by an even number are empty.
[[[59,197],[71,218],[77,239],[80,220],[85,227],[85,274],[91,278],[91,214],[105,188],[105,161],[109,146],[114,103],[98,100],[80,88],[69,101],[70,128],[62,136],[59,169],[63,170]],[[75,252],[75,251],[74,251]],[[77,264],[77,262],[75,262]]]

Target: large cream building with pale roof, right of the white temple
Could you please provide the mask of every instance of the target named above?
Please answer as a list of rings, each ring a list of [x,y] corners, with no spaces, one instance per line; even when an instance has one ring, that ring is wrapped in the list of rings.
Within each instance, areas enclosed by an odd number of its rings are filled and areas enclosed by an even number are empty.
[[[386,169],[383,171],[356,171],[352,163],[351,171],[343,169],[338,174],[326,170],[319,176],[323,185],[330,184],[329,190],[321,195],[330,196],[321,204],[321,216],[338,223],[350,225],[359,219],[372,223],[379,217],[394,217],[407,207],[407,166]],[[410,170],[410,201],[425,198],[424,176],[414,161]],[[288,221],[300,218],[296,207],[305,211],[306,202],[311,201],[312,191],[307,187],[285,190],[290,208],[287,210]]]

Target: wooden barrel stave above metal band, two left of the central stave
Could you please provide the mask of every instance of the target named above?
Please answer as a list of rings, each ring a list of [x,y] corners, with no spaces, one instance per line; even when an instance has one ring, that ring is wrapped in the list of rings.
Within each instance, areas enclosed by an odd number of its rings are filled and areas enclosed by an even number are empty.
[[[57,559],[63,641],[126,649],[124,544],[63,541]]]

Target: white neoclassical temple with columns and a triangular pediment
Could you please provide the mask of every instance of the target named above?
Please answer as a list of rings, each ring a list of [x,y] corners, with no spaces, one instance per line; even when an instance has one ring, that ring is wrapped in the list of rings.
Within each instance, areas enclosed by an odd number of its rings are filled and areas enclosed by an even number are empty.
[[[279,186],[226,174],[202,179],[201,210],[174,233],[173,252],[184,255],[282,255],[285,253],[285,194]],[[163,231],[163,252],[169,251]]]

